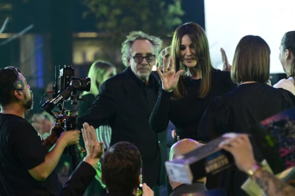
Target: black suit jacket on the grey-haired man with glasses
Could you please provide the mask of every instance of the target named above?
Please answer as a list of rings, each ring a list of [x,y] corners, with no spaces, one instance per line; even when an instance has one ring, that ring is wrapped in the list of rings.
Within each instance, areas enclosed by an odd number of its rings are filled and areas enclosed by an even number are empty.
[[[78,118],[79,125],[88,122],[95,128],[108,123],[112,128],[110,145],[120,141],[136,145],[142,156],[143,182],[149,186],[159,184],[160,171],[164,170],[163,161],[166,160],[162,157],[161,164],[160,148],[165,152],[166,132],[157,134],[149,125],[157,101],[159,80],[158,73],[153,72],[149,85],[145,85],[128,67],[100,86],[96,101]],[[166,153],[163,156],[167,156]]]

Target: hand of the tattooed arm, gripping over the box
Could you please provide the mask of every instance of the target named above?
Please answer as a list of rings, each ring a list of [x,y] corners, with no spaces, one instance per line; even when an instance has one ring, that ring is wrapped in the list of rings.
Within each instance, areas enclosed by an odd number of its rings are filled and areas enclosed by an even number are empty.
[[[229,139],[219,146],[233,155],[235,165],[243,172],[248,172],[256,163],[247,134],[241,134]]]

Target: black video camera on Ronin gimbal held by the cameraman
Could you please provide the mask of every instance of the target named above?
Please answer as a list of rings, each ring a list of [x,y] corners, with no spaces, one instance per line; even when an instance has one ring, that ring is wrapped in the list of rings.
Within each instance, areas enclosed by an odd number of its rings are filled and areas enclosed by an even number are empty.
[[[66,101],[71,101],[72,105],[77,104],[77,100],[83,100],[77,95],[77,91],[90,91],[90,78],[71,78],[74,76],[74,69],[72,66],[64,66],[59,68],[60,73],[57,76],[55,67],[55,84],[53,86],[53,99],[47,100],[42,108],[51,114],[55,121],[61,125],[64,130],[78,129],[77,113],[66,110],[64,104]],[[59,111],[54,110],[58,107]],[[65,153],[72,156],[73,169],[79,164],[78,151],[76,146],[69,146]]]

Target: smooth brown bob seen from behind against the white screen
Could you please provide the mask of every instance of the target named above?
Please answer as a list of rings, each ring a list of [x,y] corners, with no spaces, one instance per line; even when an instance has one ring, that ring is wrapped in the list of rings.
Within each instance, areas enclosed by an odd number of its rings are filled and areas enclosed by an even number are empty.
[[[261,37],[243,37],[234,52],[230,73],[232,81],[237,84],[246,81],[268,82],[270,54],[269,45]]]

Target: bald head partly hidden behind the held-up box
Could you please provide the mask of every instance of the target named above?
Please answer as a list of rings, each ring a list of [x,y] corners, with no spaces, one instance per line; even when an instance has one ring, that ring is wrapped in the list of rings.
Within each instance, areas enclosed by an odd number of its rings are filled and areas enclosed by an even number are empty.
[[[178,142],[176,142],[175,144],[173,144],[171,146],[170,149],[170,154],[169,154],[169,160],[173,160],[176,157],[186,154],[192,150],[197,149],[198,147],[202,146],[202,144],[198,143],[195,140],[192,139],[182,139]],[[201,178],[199,180],[197,180],[198,182],[206,182],[206,178]],[[169,179],[169,182],[172,186],[172,189],[174,189],[175,187],[181,185],[182,183],[179,182],[173,182]]]

